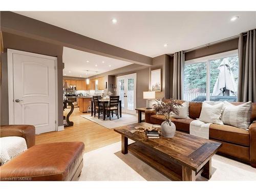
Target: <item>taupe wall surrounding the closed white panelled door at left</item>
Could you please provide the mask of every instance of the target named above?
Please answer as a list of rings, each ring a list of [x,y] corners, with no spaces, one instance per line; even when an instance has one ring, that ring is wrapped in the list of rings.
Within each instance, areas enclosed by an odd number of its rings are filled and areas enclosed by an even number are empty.
[[[30,39],[18,35],[3,32],[4,53],[1,54],[2,61],[2,85],[1,85],[1,124],[9,124],[8,106],[8,71],[7,71],[7,48],[20,51],[38,53],[57,57],[58,74],[58,125],[63,125],[63,103],[62,103],[62,51],[61,46],[48,44],[47,42]]]

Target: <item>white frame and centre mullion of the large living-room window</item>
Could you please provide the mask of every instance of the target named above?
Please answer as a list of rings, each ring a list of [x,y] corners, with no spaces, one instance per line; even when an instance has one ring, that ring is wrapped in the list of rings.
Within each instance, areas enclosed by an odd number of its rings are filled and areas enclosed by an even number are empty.
[[[210,100],[210,60],[216,60],[216,59],[221,59],[223,57],[233,57],[233,56],[238,56],[238,49],[232,50],[232,51],[227,51],[223,53],[218,53],[214,55],[209,55],[205,57],[200,57],[196,59],[191,59],[187,60],[184,62],[184,68],[183,68],[183,74],[184,74],[184,69],[186,65],[193,65],[199,62],[206,62],[206,101]],[[183,75],[183,83],[182,83],[182,98],[184,97],[184,75]]]

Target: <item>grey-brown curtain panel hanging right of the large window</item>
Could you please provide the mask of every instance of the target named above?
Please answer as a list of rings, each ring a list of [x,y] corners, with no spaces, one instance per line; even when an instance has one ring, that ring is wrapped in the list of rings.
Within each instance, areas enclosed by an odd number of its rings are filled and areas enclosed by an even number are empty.
[[[240,34],[238,101],[256,102],[256,29]]]

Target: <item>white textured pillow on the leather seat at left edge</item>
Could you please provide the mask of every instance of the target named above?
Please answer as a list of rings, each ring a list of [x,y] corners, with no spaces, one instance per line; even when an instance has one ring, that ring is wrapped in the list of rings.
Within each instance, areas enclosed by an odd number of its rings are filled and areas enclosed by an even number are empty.
[[[0,143],[1,165],[27,150],[27,143],[23,137],[1,137]]]

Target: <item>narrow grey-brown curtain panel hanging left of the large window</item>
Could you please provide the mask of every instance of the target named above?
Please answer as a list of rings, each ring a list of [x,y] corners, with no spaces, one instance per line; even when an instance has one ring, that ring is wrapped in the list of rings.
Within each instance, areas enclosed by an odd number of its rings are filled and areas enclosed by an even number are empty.
[[[174,54],[174,76],[173,76],[173,98],[182,99],[182,82],[184,71],[184,53],[182,51]]]

